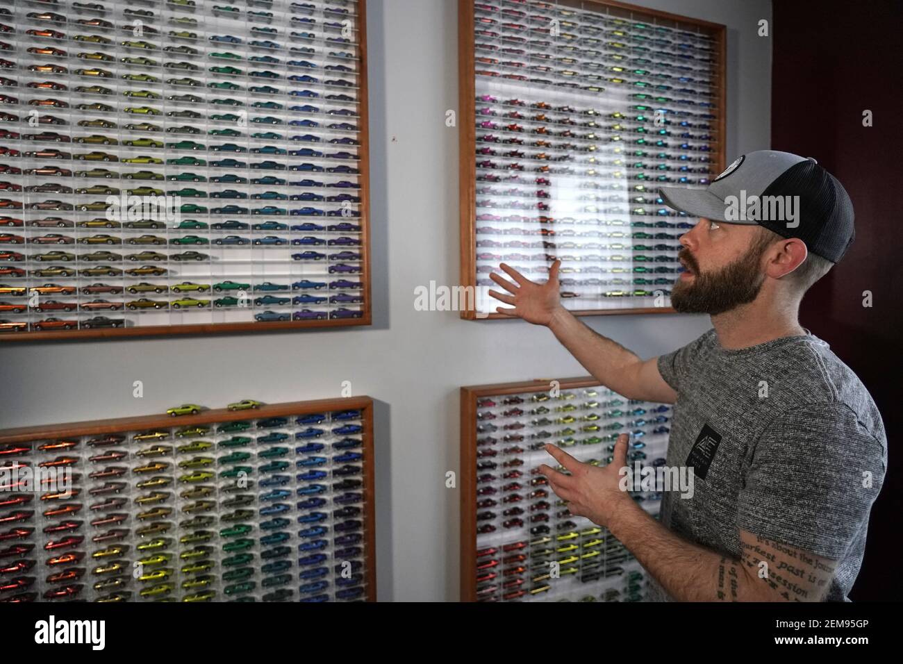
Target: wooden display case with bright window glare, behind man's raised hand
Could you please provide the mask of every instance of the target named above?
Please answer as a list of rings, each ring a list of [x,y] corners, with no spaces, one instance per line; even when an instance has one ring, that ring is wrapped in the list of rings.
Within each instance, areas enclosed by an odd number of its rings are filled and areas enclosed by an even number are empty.
[[[596,0],[458,7],[461,316],[506,317],[499,263],[544,281],[556,259],[573,313],[673,312],[697,220],[658,187],[724,166],[725,27]]]

